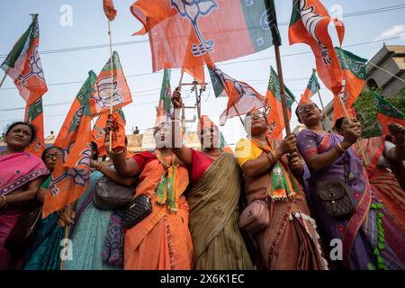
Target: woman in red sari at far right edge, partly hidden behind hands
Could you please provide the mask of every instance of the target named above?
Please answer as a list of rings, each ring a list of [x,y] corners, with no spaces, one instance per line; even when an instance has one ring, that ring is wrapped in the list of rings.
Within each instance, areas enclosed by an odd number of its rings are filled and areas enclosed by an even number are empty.
[[[349,114],[353,122],[359,122],[354,109]],[[347,127],[347,119],[339,117],[335,124],[338,133],[344,136]],[[365,170],[375,195],[405,231],[405,128],[391,123],[389,129],[391,135],[360,139],[360,146],[370,161]],[[355,144],[353,148],[357,157],[362,159],[358,146]]]

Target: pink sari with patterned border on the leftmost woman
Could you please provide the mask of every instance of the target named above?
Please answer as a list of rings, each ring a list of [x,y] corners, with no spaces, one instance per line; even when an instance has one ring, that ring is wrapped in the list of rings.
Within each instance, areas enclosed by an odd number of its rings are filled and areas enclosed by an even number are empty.
[[[13,193],[16,189],[49,171],[39,157],[31,153],[18,152],[0,156],[0,195]],[[5,239],[23,215],[24,207],[0,209],[0,270],[8,269],[11,255],[5,249]]]

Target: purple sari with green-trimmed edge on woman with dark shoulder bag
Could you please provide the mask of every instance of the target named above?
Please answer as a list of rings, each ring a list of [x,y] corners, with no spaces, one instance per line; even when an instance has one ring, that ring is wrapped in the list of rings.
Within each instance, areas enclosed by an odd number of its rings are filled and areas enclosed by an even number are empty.
[[[302,130],[297,137],[297,144],[305,159],[335,148],[342,140],[338,134],[324,136],[311,130]],[[336,266],[361,270],[404,269],[404,235],[392,220],[389,211],[374,195],[365,167],[353,148],[348,148],[347,153],[322,171],[308,172],[308,202],[320,227],[324,243],[329,247],[331,239],[342,240],[343,261],[334,261]],[[356,212],[350,219],[339,220],[329,216],[317,196],[317,181],[334,178],[346,179],[352,190]]]

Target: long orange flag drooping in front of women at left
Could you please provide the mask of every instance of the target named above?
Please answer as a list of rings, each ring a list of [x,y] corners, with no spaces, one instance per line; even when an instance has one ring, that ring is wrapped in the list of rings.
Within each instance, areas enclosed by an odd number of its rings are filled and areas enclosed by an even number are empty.
[[[62,148],[63,155],[58,159],[45,194],[43,218],[75,202],[89,184],[92,153],[89,96],[94,79],[95,74],[90,71],[55,142]]]

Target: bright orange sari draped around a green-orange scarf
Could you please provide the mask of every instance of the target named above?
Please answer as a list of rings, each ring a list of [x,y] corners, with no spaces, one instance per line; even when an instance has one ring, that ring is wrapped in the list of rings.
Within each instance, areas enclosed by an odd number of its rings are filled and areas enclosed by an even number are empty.
[[[170,156],[166,157],[170,162]],[[189,206],[184,191],[189,183],[188,171],[178,168],[178,211],[169,213],[166,205],[156,203],[155,190],[165,174],[164,166],[154,159],[139,176],[136,196],[148,193],[152,212],[133,228],[125,231],[125,270],[190,270],[193,268],[193,242],[188,229]]]

